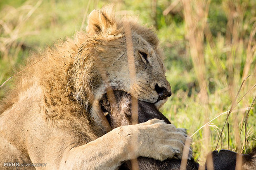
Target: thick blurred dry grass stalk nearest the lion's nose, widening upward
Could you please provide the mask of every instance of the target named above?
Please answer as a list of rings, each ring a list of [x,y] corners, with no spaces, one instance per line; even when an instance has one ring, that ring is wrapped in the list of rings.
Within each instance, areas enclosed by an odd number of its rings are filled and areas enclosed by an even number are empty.
[[[202,105],[202,112],[205,113],[204,122],[209,122],[209,98],[207,93],[207,83],[206,83],[206,67],[204,59],[204,28],[206,25],[206,20],[209,11],[209,1],[199,0],[190,1],[182,0],[184,7],[185,25],[187,30],[187,39],[190,45],[190,55],[192,57],[192,62],[194,65],[194,71],[199,82],[200,93],[199,99]],[[201,148],[202,159],[206,160],[206,153],[211,151],[209,147],[210,143],[210,131],[209,126],[204,126],[203,128],[204,143]],[[211,163],[210,163],[211,162]],[[208,164],[209,168],[213,167],[212,161]],[[200,167],[199,169],[204,169]]]

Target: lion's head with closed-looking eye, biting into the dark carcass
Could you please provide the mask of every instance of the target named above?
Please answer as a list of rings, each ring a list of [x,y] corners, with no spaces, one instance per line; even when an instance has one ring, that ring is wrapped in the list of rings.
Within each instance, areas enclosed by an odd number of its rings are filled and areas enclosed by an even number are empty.
[[[130,18],[116,19],[111,7],[104,7],[90,13],[86,31],[88,39],[79,47],[74,64],[75,70],[84,70],[74,75],[78,98],[88,99],[89,96],[93,102],[102,97],[106,87],[112,87],[141,101],[155,103],[159,108],[171,96],[159,41],[152,29]],[[129,70],[127,43],[133,49],[135,70]],[[133,78],[131,72],[135,73]],[[88,87],[91,94],[88,94]]]

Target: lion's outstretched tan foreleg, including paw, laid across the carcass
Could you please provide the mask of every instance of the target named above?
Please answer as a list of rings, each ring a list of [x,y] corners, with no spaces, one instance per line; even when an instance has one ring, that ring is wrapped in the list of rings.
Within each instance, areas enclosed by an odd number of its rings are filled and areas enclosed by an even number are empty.
[[[63,154],[59,165],[61,169],[116,169],[123,161],[139,156],[162,161],[182,153],[185,138],[174,125],[152,119],[121,126],[92,142],[73,147]]]

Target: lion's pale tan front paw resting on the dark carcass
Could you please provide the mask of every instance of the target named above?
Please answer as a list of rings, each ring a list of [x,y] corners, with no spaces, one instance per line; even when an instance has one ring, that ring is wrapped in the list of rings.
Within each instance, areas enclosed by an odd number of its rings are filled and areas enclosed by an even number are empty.
[[[138,126],[139,156],[163,161],[167,158],[182,158],[187,138],[185,129],[177,129],[163,120],[152,119]],[[191,150],[191,148],[190,148]],[[192,150],[188,159],[192,157]]]

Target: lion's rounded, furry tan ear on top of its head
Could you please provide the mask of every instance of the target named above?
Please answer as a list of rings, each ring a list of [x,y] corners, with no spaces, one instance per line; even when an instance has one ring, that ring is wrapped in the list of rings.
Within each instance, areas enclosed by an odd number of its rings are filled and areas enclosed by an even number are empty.
[[[113,34],[116,31],[116,22],[111,8],[93,10],[88,17],[86,31],[89,35]]]

